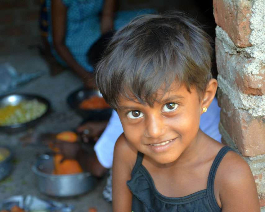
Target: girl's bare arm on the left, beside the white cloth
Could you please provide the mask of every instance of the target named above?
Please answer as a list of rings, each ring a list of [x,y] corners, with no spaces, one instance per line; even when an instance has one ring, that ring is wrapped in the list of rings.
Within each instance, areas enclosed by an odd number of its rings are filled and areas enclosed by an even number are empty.
[[[114,212],[132,211],[132,193],[126,182],[131,179],[136,157],[137,152],[128,147],[126,138],[122,134],[115,144],[112,166],[112,208]]]

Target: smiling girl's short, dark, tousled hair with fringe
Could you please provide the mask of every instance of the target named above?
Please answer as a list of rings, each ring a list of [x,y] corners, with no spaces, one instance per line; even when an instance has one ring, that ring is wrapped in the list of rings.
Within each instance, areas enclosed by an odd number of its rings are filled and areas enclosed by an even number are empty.
[[[119,108],[119,97],[153,105],[158,89],[174,80],[188,91],[205,92],[211,75],[209,36],[181,12],[143,15],[115,33],[96,68],[105,100]]]

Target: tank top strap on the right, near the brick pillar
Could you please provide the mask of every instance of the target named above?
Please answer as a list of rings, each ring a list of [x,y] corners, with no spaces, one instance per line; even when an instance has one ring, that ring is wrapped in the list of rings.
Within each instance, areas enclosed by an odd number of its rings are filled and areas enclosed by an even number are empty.
[[[223,157],[226,155],[226,153],[228,151],[235,151],[233,150],[231,147],[222,147],[222,149],[220,149],[220,151],[218,152],[217,156],[215,157],[215,159],[213,160],[213,164],[211,166],[210,172],[209,172],[209,176],[208,176],[208,181],[207,181],[207,196],[208,196],[208,200],[209,203],[212,207],[212,209],[215,211],[220,210],[215,196],[214,196],[214,190],[213,190],[213,185],[214,185],[214,179],[215,179],[215,174],[216,171],[218,169],[219,164],[221,163]]]

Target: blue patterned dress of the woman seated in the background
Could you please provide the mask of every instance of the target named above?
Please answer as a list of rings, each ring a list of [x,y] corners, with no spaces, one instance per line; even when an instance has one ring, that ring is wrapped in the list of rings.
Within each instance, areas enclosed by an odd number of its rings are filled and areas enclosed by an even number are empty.
[[[92,44],[101,36],[100,13],[104,0],[61,0],[67,7],[65,45],[74,59],[89,72],[93,71],[88,63],[87,52]],[[48,14],[48,42],[56,60],[67,66],[61,59],[52,43],[51,0],[46,0]],[[154,13],[155,10],[118,11],[115,15],[114,30],[128,24],[137,15]]]

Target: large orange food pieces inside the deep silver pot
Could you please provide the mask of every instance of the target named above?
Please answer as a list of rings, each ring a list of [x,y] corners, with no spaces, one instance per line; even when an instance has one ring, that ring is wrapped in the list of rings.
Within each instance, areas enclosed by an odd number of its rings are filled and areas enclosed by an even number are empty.
[[[63,156],[56,154],[53,158],[54,171],[53,174],[76,174],[83,172],[80,164],[74,159],[65,159],[61,162]]]

